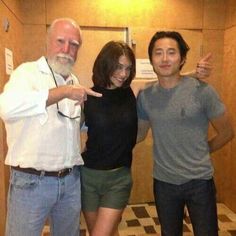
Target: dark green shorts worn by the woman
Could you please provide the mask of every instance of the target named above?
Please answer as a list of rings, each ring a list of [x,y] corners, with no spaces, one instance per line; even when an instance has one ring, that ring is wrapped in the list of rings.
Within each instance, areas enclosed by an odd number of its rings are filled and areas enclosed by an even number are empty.
[[[81,168],[81,202],[83,211],[97,211],[99,207],[123,209],[132,188],[131,170]]]

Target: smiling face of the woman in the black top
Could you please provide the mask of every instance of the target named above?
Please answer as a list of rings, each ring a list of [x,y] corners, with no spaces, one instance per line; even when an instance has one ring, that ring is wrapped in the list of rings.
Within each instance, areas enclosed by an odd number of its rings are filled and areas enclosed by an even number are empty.
[[[125,55],[120,56],[116,70],[110,78],[111,86],[109,87],[109,89],[116,89],[122,87],[122,85],[130,75],[131,67],[132,64],[129,58]]]

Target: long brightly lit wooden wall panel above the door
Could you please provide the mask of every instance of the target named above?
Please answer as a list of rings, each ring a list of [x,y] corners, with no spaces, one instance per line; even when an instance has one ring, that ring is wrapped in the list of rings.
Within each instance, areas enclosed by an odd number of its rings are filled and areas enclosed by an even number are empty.
[[[47,23],[63,16],[70,16],[81,25],[111,27],[199,29],[203,23],[203,0],[71,0],[70,4],[47,0],[46,8]]]

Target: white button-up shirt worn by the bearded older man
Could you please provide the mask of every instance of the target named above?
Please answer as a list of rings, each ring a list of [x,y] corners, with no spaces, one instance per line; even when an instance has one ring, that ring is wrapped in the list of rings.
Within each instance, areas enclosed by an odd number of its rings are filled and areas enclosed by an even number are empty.
[[[78,84],[71,75],[66,81],[54,74],[58,86]],[[0,95],[0,116],[7,131],[8,153],[5,164],[58,171],[82,165],[80,118],[69,119],[57,113],[57,105],[46,107],[49,89],[56,87],[45,57],[20,65]],[[80,115],[75,101],[58,102],[61,112]]]

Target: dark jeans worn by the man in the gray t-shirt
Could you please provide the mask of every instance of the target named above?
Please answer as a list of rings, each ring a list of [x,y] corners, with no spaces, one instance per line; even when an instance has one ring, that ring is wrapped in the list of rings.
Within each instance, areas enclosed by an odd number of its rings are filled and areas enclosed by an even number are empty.
[[[174,185],[154,179],[154,197],[162,236],[182,236],[187,206],[195,236],[217,236],[216,189],[213,179]]]

